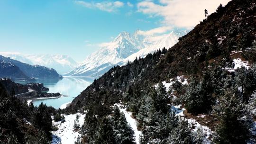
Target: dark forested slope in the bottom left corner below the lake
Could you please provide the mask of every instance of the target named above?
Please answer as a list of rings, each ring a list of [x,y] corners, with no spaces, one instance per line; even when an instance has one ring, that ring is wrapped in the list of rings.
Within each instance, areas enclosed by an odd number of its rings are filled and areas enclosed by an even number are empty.
[[[22,103],[0,83],[0,144],[49,144],[55,113],[53,107]]]

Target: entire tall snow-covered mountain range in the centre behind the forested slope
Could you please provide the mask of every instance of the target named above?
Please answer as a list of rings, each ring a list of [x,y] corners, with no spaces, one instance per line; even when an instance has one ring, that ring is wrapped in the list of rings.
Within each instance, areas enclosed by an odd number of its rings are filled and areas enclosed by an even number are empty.
[[[99,51],[89,55],[72,71],[64,76],[99,77],[114,65],[123,65],[134,61],[136,57],[145,57],[158,49],[170,48],[186,31],[174,29],[161,36],[145,35],[141,30],[133,34],[121,32],[113,41],[101,44]]]

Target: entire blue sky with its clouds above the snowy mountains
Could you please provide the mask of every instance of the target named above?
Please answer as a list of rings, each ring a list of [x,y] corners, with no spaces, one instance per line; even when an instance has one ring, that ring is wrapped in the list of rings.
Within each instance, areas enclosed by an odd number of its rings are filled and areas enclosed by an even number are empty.
[[[189,1],[193,0],[0,0],[0,51],[67,54],[82,61],[99,48],[94,44],[108,42],[121,31],[191,29],[195,22],[184,23],[191,12],[177,12]],[[193,3],[198,1],[208,0]],[[202,9],[209,7],[211,12],[229,0],[216,1],[202,2]],[[203,11],[194,13],[199,22]]]

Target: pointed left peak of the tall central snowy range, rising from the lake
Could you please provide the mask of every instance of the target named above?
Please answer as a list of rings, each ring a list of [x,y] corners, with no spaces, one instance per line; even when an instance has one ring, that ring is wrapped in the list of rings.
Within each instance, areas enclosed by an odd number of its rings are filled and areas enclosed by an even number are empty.
[[[88,56],[66,76],[97,77],[108,71],[114,64],[145,48],[133,35],[122,32],[113,41],[101,44],[99,51]]]

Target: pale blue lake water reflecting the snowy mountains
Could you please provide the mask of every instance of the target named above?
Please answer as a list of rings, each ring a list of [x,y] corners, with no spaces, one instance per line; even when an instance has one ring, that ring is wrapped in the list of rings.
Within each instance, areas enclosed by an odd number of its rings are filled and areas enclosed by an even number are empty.
[[[49,93],[59,92],[60,94],[67,95],[68,97],[62,97],[57,99],[38,99],[33,100],[34,106],[39,106],[41,102],[47,106],[54,108],[60,108],[64,103],[71,102],[77,97],[83,90],[85,90],[92,82],[93,78],[86,77],[64,77],[62,80],[57,79],[37,79],[37,83],[44,83],[44,86],[49,88]],[[30,81],[15,81],[17,83],[26,84]]]

